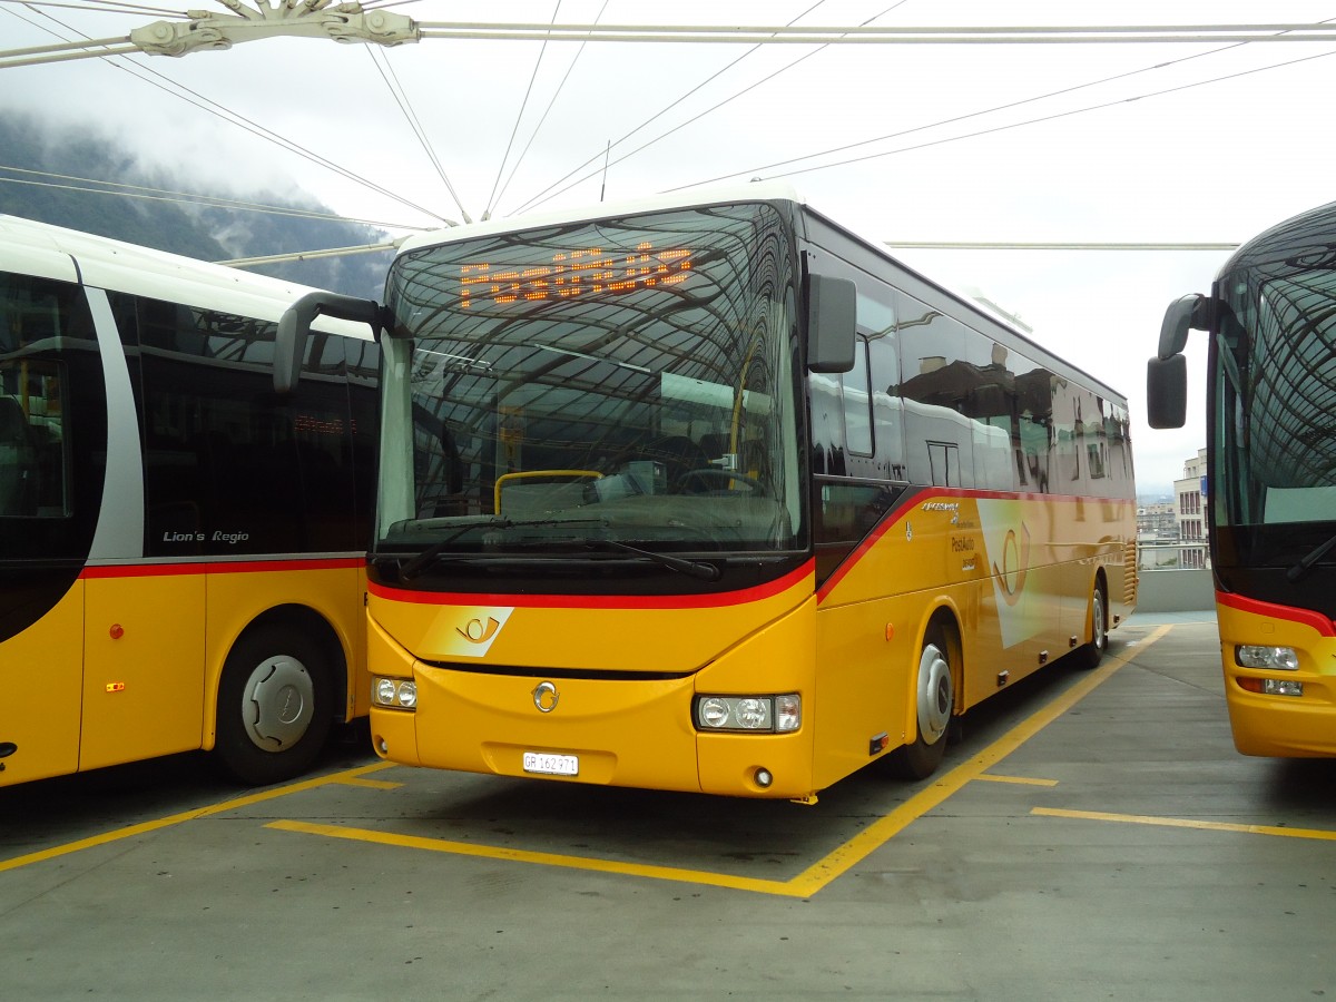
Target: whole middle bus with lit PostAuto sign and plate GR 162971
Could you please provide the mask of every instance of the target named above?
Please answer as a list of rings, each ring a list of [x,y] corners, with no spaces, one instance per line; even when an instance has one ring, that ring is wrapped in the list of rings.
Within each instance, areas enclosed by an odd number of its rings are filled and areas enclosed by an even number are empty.
[[[787,186],[413,238],[373,315],[387,760],[812,802],[1133,608],[1126,401]]]

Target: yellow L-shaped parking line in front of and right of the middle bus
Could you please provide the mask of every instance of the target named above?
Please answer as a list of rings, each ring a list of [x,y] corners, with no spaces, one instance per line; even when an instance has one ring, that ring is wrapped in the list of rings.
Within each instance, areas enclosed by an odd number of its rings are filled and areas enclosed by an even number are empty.
[[[1140,653],[1144,651],[1168,631],[1168,625],[1160,627],[1137,647],[1137,652]],[[351,839],[354,842],[371,842],[381,846],[418,848],[432,852],[452,852],[456,855],[482,856],[488,859],[542,863],[574,870],[592,870],[605,874],[624,874],[629,876],[679,880],[684,883],[709,884],[713,887],[727,887],[732,890],[756,891],[759,894],[808,898],[826,887],[831,880],[866,859],[871,852],[880,848],[891,838],[903,831],[910,823],[922,818],[971,780],[993,779],[998,782],[1027,782],[1037,784],[1050,783],[1050,780],[1023,780],[1017,778],[986,775],[985,771],[995,766],[998,762],[1019,748],[1025,741],[1030,740],[1041,729],[1067,712],[1073,705],[1090,695],[1090,692],[1106,681],[1126,663],[1126,657],[1110,656],[1101,668],[1092,672],[1037,713],[1033,713],[1023,723],[1011,728],[1007,733],[985,748],[979,755],[962,763],[961,766],[957,766],[941,779],[918,791],[888,815],[878,819],[868,828],[855,835],[852,839],[843,843],[818,862],[812,863],[803,872],[790,880],[759,880],[755,878],[732,876],[729,874],[719,874],[707,870],[679,870],[676,867],[615,862],[609,859],[596,859],[592,856],[569,856],[554,852],[498,848],[494,846],[477,846],[466,842],[450,842],[446,839],[432,839],[418,835],[395,835],[393,832],[373,831],[369,828],[349,828],[333,824],[313,824],[309,822],[278,820],[270,822],[267,827],[282,831],[305,832],[309,835],[323,835],[326,838]]]

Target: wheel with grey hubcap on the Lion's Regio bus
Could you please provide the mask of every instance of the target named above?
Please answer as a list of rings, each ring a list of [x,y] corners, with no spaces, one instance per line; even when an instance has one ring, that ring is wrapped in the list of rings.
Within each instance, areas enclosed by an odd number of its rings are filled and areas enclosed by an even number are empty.
[[[218,687],[214,756],[235,779],[278,783],[311,767],[331,720],[329,671],[317,644],[275,625],[236,641]]]

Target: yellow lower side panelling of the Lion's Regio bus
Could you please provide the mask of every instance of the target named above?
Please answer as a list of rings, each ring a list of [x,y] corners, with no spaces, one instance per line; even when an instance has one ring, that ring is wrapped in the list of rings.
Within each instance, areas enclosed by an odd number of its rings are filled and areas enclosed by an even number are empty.
[[[321,562],[321,561],[313,561]],[[257,617],[310,608],[349,671],[345,720],[367,712],[366,573],[361,560],[138,565],[75,582],[37,623],[0,644],[0,786],[212,748],[227,655]],[[24,695],[28,693],[28,695]],[[335,693],[335,705],[341,699]]]

